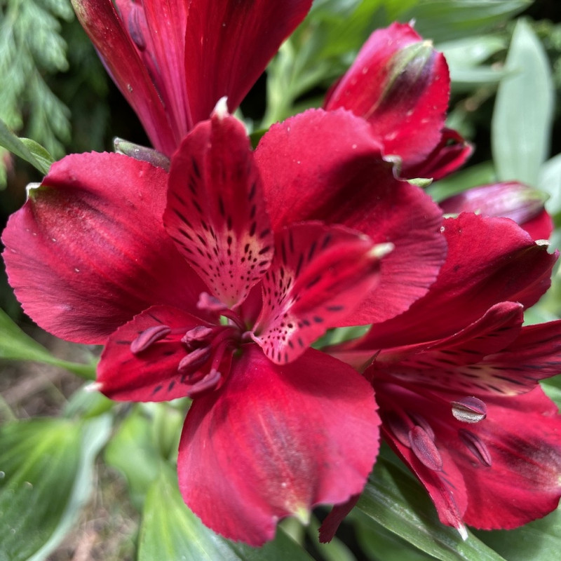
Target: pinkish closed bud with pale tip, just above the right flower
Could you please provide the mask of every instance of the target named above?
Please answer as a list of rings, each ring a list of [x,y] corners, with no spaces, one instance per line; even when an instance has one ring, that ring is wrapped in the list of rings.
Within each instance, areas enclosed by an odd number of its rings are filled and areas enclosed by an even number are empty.
[[[544,206],[546,200],[542,191],[511,181],[473,187],[439,204],[446,214],[476,212],[511,218],[534,240],[547,240],[553,231],[553,219]]]

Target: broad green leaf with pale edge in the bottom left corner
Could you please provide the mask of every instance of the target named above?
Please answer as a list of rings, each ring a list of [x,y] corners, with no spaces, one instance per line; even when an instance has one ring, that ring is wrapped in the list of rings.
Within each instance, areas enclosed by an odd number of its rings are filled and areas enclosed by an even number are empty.
[[[90,497],[109,417],[16,421],[0,428],[0,560],[41,561]]]

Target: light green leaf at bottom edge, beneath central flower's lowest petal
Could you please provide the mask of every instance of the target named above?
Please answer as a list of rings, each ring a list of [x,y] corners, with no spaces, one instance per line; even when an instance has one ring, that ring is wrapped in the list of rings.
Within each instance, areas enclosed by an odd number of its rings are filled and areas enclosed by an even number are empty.
[[[235,516],[236,513],[232,513]],[[137,561],[311,561],[280,529],[262,548],[250,548],[217,536],[185,506],[177,475],[167,466],[149,489]]]

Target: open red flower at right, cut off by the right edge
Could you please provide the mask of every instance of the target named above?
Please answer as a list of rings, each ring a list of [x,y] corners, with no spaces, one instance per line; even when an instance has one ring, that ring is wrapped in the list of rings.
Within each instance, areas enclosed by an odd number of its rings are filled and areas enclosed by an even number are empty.
[[[444,224],[448,257],[428,295],[334,356],[370,356],[384,438],[466,537],[464,523],[510,529],[557,507],[561,418],[537,381],[561,372],[561,321],[522,327],[556,255],[508,219]]]

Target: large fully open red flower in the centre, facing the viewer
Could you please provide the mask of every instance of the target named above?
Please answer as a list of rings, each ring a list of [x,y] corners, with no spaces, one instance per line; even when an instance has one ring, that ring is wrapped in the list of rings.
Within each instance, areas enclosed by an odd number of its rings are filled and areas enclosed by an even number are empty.
[[[379,240],[318,217],[300,221],[297,205],[299,222],[283,224],[262,187],[275,158],[256,161],[224,107],[187,135],[169,175],[118,154],[53,164],[3,236],[27,313],[65,339],[105,344],[103,393],[193,398],[178,458],[184,499],[206,525],[252,545],[271,539],[280,518],[304,518],[318,503],[360,492],[377,454],[372,387],[311,342],[344,325],[358,304],[372,318],[407,309],[417,292],[405,286],[413,279],[426,292],[445,250],[438,208],[414,187],[400,189],[369,135],[356,139],[351,125],[360,129],[360,119],[346,111],[309,119],[335,120],[334,135],[353,139],[324,158],[330,187],[314,192],[316,208],[329,215],[343,193],[353,198],[347,175],[336,183],[331,168],[344,171],[358,158],[371,205],[384,215]],[[286,184],[287,203],[300,188]],[[393,210],[407,196],[420,210]],[[401,246],[418,231],[425,247],[407,272]],[[403,279],[388,283],[398,270]],[[377,295],[388,285],[400,292],[400,283],[407,296],[384,309]]]

